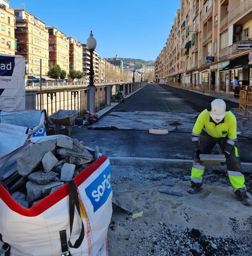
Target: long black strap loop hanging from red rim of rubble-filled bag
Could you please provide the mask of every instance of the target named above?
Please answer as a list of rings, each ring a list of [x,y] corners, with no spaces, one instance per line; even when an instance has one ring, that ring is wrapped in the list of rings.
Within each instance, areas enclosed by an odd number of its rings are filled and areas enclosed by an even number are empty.
[[[68,182],[68,187],[69,187],[69,215],[70,215],[70,237],[68,240],[68,245],[70,248],[79,248],[81,245],[84,236],[85,236],[85,229],[84,229],[84,224],[83,221],[81,220],[81,232],[79,234],[79,238],[75,241],[74,245],[72,245],[70,239],[71,239],[71,234],[72,234],[72,225],[74,223],[74,209],[76,206],[76,209],[78,211],[79,217],[81,219],[81,212],[79,209],[79,199],[78,199],[78,192],[74,183],[74,180],[70,180]]]

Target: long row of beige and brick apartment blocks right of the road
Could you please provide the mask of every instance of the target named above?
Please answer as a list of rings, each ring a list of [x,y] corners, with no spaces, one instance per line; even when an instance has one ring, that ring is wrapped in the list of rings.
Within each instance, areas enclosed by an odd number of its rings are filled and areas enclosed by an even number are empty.
[[[252,85],[250,50],[237,42],[252,40],[252,1],[181,0],[164,48],[155,61],[155,78],[185,83]],[[163,70],[163,72],[161,72]]]

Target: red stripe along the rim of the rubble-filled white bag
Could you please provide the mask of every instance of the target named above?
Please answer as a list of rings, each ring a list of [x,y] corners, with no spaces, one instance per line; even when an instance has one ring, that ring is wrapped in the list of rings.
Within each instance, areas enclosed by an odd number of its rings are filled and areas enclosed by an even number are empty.
[[[90,166],[86,167],[81,171],[78,175],[74,177],[74,182],[76,187],[81,185],[94,171],[96,171],[105,161],[107,160],[106,156],[101,156],[94,163],[90,164]],[[5,204],[16,213],[19,213],[23,216],[27,217],[35,217],[48,208],[52,207],[54,204],[62,200],[69,194],[68,184],[63,185],[59,189],[57,189],[52,194],[48,195],[44,199],[41,199],[40,202],[35,204],[35,206],[27,209],[21,206],[18,202],[16,202],[10,193],[0,184],[0,198],[5,202]]]

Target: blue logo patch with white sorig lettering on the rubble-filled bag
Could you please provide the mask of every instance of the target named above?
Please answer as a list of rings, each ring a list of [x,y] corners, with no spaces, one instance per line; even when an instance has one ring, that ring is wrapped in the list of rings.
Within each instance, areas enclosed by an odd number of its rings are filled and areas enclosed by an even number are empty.
[[[110,183],[111,166],[107,168],[85,189],[86,195],[93,204],[94,213],[107,201],[112,186]]]

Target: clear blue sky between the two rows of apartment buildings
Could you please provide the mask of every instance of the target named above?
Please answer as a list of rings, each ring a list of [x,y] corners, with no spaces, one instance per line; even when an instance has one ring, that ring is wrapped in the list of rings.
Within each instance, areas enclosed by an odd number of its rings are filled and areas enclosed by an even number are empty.
[[[180,0],[9,0],[47,25],[86,43],[90,30],[100,57],[154,61],[171,30]]]

